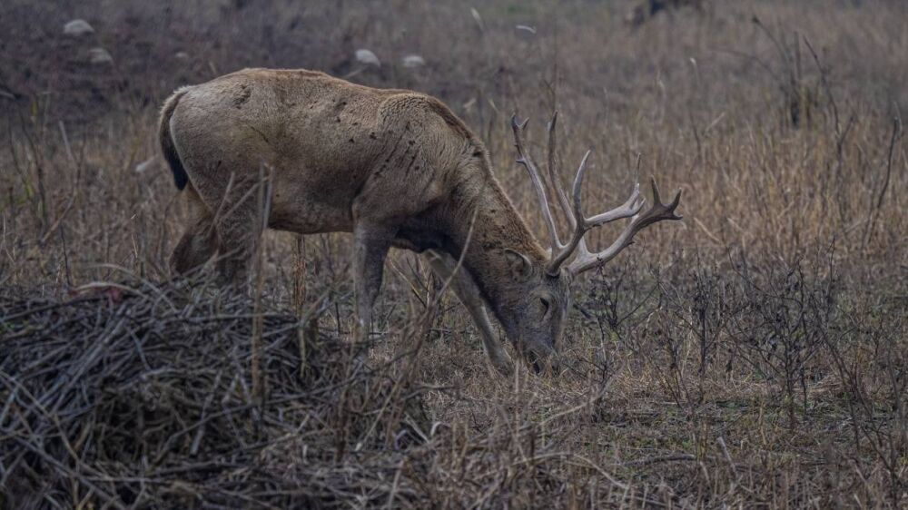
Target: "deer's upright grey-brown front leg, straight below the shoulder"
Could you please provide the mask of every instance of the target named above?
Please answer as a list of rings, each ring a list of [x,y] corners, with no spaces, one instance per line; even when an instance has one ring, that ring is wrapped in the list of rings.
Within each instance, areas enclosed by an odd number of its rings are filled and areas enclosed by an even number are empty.
[[[369,339],[372,320],[372,305],[381,289],[381,276],[385,257],[397,228],[357,222],[353,228],[353,293],[356,318],[353,323],[353,339],[363,342]]]

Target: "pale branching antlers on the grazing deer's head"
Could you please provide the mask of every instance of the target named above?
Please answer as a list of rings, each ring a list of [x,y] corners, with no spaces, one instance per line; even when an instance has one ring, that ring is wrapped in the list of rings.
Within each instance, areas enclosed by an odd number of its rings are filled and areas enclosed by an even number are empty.
[[[562,243],[558,237],[555,219],[552,216],[552,211],[548,205],[545,185],[540,177],[536,163],[533,162],[533,158],[523,147],[521,134],[526,128],[528,121],[524,121],[524,123],[521,124],[518,123],[517,116],[511,118],[511,127],[514,129],[514,139],[519,153],[517,162],[527,169],[530,179],[533,181],[533,187],[536,188],[536,193],[542,208],[542,214],[548,227],[548,234],[551,241],[551,260],[548,263],[548,274],[558,274],[561,266],[575,251],[577,251],[577,258],[568,265],[568,271],[571,274],[577,274],[601,266],[608,260],[612,260],[621,250],[624,250],[627,246],[632,244],[634,236],[638,231],[645,229],[657,221],[681,219],[680,216],[675,214],[675,209],[681,201],[681,191],[677,192],[675,199],[671,203],[663,204],[659,199],[659,191],[658,188],[656,188],[655,180],[652,180],[653,200],[655,203],[643,214],[638,214],[640,210],[643,209],[645,199],[640,196],[640,184],[637,182],[634,185],[634,190],[631,191],[630,197],[628,197],[627,201],[623,204],[611,211],[606,211],[590,218],[585,217],[580,201],[580,191],[583,188],[583,177],[587,172],[587,159],[589,158],[590,151],[587,151],[587,153],[584,154],[583,160],[580,161],[580,165],[577,167],[577,175],[574,178],[574,187],[572,189],[573,204],[570,204],[568,202],[568,195],[561,185],[561,181],[558,178],[558,171],[555,168],[555,125],[557,121],[558,113],[552,117],[551,123],[548,123],[548,178],[550,180],[549,184],[551,185],[551,188],[557,195],[561,211],[568,217],[568,224],[573,232],[568,243]],[[610,221],[622,220],[632,216],[635,216],[634,220],[621,232],[618,239],[612,243],[607,250],[597,253],[590,253],[590,251],[587,250],[587,243],[583,239],[587,231]]]

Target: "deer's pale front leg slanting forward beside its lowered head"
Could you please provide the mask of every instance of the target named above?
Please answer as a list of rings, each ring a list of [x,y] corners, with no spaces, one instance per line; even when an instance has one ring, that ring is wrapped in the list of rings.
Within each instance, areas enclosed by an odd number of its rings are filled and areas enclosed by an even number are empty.
[[[448,253],[436,250],[426,250],[426,259],[435,274],[443,280],[451,279],[451,289],[457,295],[463,306],[467,307],[470,317],[479,328],[479,336],[482,337],[482,347],[489,356],[492,366],[504,376],[510,376],[513,373],[513,365],[508,353],[495,338],[495,331],[492,329],[492,323],[489,321],[489,314],[483,304],[482,296],[479,294],[479,288],[473,278],[469,275],[466,268],[457,267],[457,261]]]

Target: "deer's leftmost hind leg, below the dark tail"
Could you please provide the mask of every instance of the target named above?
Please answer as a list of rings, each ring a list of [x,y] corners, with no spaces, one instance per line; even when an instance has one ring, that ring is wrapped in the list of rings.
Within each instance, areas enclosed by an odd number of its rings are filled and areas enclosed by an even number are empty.
[[[183,232],[183,237],[173,249],[170,259],[171,270],[181,275],[200,268],[218,250],[212,211],[209,211],[202,202],[192,184],[188,186],[185,194],[189,202],[191,220],[189,227]]]

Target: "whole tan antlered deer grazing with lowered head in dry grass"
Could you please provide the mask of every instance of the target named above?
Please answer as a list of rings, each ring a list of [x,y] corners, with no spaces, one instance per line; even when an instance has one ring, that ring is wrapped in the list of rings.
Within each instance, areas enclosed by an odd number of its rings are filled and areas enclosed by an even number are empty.
[[[498,185],[486,147],[433,97],[311,71],[267,69],[179,89],[163,105],[159,132],[176,186],[186,189],[192,207],[192,221],[173,250],[173,270],[185,273],[218,251],[222,280],[245,280],[263,226],[256,190],[267,168],[269,227],[353,233],[354,338],[368,336],[393,246],[424,253],[432,270],[451,279],[498,371],[510,373],[511,364],[487,308],[531,367],[557,368],[553,354],[574,277],[611,260],[656,221],[680,220],[680,191],[663,204],[654,181],[655,203],[641,213],[637,185],[617,209],[585,217],[580,190],[589,152],[568,201],[552,164],[553,119],[549,186],[572,230],[562,242],[543,176],[522,141],[526,123],[512,124],[518,162],[529,172],[548,227],[548,251]],[[610,247],[587,250],[587,230],[624,218],[633,219]]]

